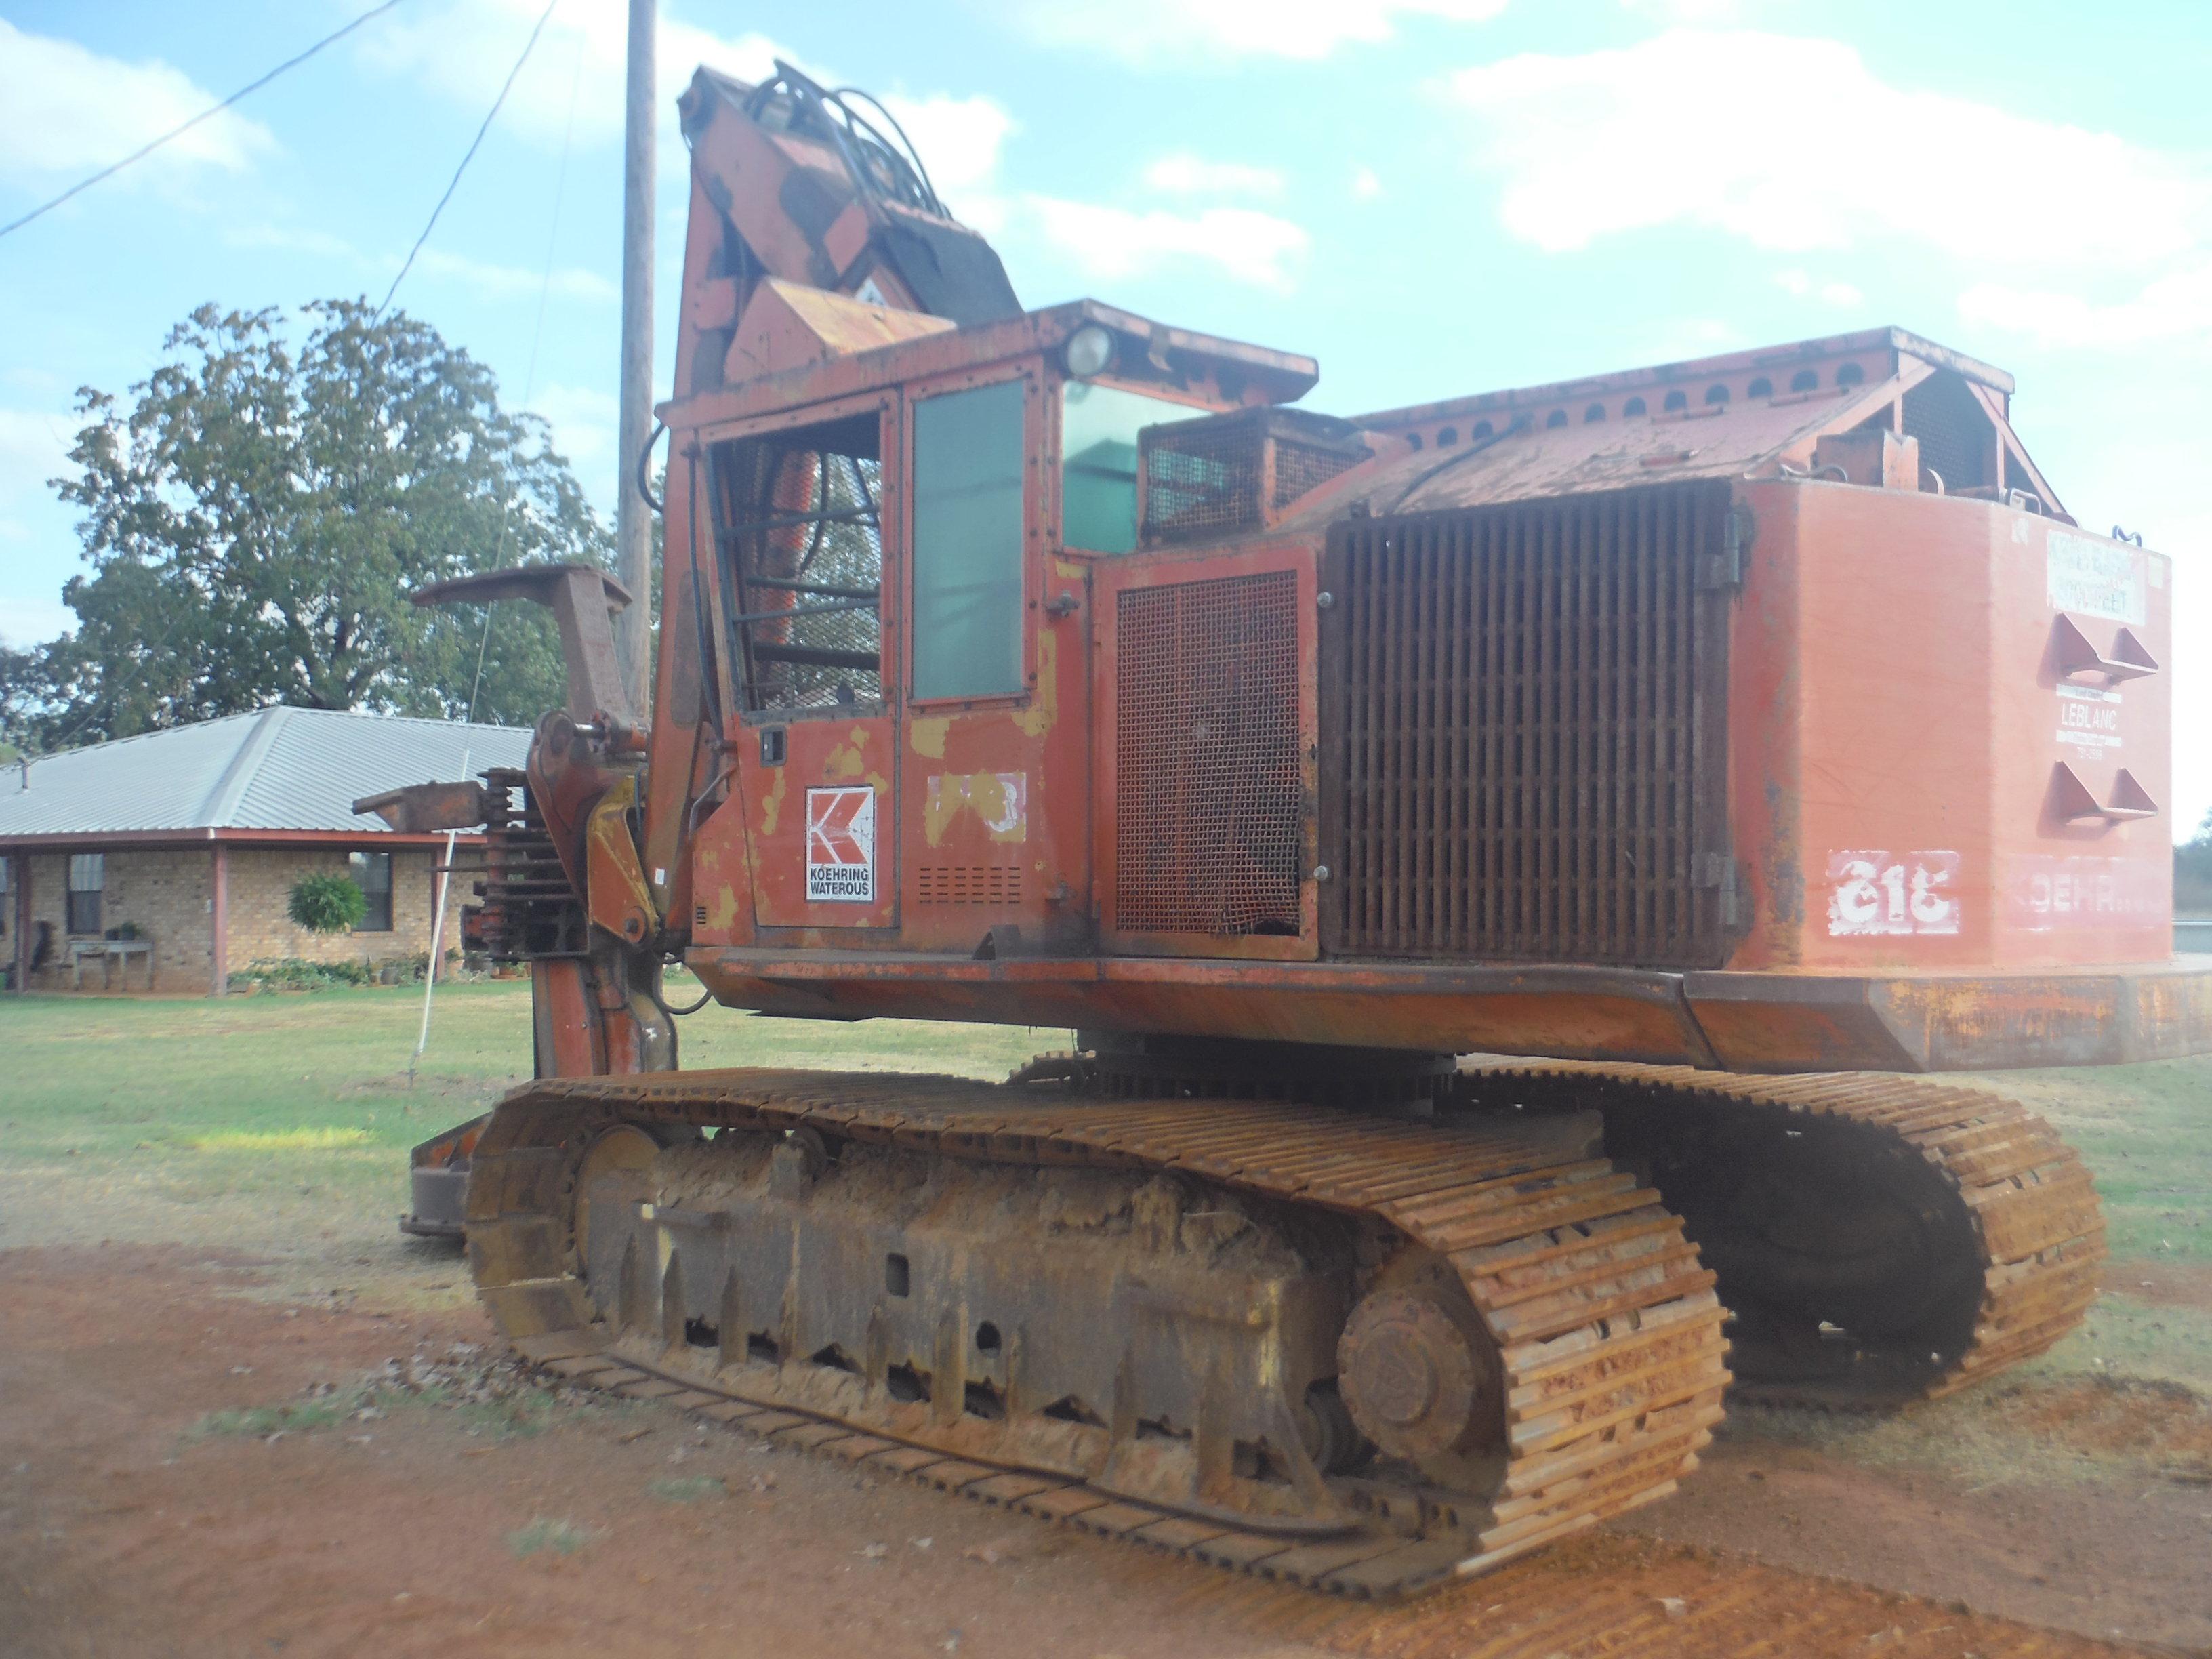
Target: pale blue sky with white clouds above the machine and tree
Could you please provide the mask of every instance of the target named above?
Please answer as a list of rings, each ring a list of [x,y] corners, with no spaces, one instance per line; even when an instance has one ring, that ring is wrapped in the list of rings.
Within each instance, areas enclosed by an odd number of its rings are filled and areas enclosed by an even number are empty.
[[[367,0],[0,0],[0,221]],[[380,296],[540,0],[403,0],[0,241],[0,637],[69,622],[77,385],[201,301]],[[613,500],[622,0],[562,0],[400,305]],[[1332,411],[1900,323],[2020,376],[2068,507],[2174,555],[2212,810],[2201,0],[666,0],[661,93],[785,55],[907,122],[1024,303],[1312,352]],[[684,234],[661,142],[661,316]],[[557,217],[555,217],[557,206]],[[551,272],[551,279],[546,276]],[[544,325],[540,332],[540,296]],[[535,363],[533,363],[535,341]],[[672,332],[659,334],[659,387]]]

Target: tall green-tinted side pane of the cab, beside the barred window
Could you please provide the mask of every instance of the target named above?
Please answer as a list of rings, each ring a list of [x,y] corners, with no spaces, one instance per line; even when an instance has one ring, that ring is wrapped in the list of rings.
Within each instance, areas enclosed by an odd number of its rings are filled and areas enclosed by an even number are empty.
[[[914,695],[1022,690],[1022,380],[914,405]]]

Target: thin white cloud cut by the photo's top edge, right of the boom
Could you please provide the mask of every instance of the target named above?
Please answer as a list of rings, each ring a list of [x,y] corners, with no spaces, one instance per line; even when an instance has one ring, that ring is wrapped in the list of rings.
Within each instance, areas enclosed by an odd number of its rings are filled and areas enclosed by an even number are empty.
[[[1316,62],[1338,46],[1389,40],[1402,18],[1482,22],[1506,0],[998,0],[995,9],[1046,46],[1106,51],[1150,69],[1228,58]]]

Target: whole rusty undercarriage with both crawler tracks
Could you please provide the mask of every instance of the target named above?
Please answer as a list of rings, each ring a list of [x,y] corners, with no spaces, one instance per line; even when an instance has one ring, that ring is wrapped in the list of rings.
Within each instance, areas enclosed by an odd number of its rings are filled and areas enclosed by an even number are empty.
[[[1360,1597],[1663,1498],[1730,1345],[1761,1398],[1893,1405],[2095,1290],[2086,1175],[1975,1091],[1296,1071],[542,1079],[476,1146],[476,1279],[586,1383]]]

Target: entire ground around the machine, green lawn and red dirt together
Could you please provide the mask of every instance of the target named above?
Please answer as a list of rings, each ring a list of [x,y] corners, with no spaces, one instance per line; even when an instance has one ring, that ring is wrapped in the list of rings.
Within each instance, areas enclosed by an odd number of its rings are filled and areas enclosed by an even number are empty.
[[[526,1000],[442,1006],[420,1086],[392,1071],[396,993],[24,1002],[0,1006],[0,1659],[2212,1652],[2212,1066],[2020,1079],[2115,1237],[2051,1356],[1893,1418],[1736,1409],[1677,1495],[1378,1610],[504,1360],[458,1252],[394,1208],[405,1144],[511,1079]],[[692,1057],[1004,1075],[1040,1046],[732,1020]]]

